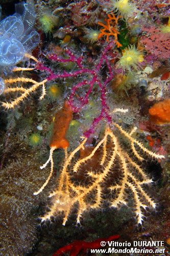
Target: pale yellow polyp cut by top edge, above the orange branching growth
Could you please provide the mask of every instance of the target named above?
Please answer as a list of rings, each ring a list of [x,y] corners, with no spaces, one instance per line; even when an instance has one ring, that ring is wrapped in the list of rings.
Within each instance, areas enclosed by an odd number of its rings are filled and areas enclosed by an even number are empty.
[[[128,18],[134,12],[134,5],[129,0],[112,0],[110,11],[118,12],[124,18]]]

